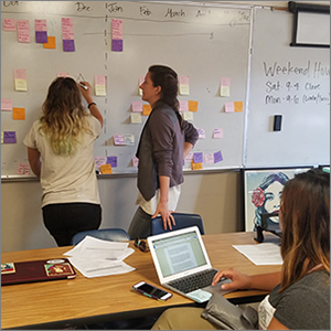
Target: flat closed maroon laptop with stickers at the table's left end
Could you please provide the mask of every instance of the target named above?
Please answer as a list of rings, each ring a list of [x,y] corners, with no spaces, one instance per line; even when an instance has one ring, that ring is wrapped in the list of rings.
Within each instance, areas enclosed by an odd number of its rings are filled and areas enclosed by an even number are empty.
[[[1,285],[12,285],[76,277],[67,258],[1,263]]]

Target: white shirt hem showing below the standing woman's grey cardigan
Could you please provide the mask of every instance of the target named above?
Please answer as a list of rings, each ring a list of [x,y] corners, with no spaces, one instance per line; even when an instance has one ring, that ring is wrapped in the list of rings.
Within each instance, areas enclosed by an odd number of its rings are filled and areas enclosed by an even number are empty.
[[[168,209],[169,211],[175,211],[179,199],[181,195],[181,185],[169,188],[169,196],[168,196]],[[138,193],[138,197],[136,204],[143,210],[145,213],[149,215],[153,215],[157,211],[158,204],[160,202],[161,192],[160,189],[156,191],[156,195],[150,200],[146,201],[141,193]]]

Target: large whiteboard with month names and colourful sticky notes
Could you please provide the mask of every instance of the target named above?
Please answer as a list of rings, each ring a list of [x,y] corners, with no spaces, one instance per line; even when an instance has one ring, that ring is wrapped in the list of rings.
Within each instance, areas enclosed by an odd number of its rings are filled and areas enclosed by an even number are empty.
[[[4,6],[6,4],[6,6]],[[248,82],[252,9],[211,3],[139,1],[2,1],[1,18],[29,20],[31,42],[18,42],[17,32],[1,30],[1,98],[25,108],[25,120],[13,120],[1,111],[1,131],[15,131],[17,143],[1,146],[1,175],[18,175],[26,163],[22,141],[40,117],[47,87],[58,73],[73,78],[81,74],[94,85],[96,75],[106,76],[106,96],[94,96],[104,118],[103,132],[95,142],[95,157],[117,157],[114,173],[136,173],[131,159],[146,121],[130,121],[131,103],[141,100],[139,77],[152,64],[173,67],[189,76],[190,94],[180,100],[199,102],[192,122],[203,129],[193,152],[222,153],[217,163],[203,169],[239,168],[243,164],[246,92]],[[72,18],[75,52],[62,47],[62,18]],[[34,20],[46,20],[47,35],[56,49],[35,42]],[[111,20],[122,20],[124,50],[111,51]],[[28,92],[17,92],[13,71],[26,70]],[[221,79],[229,78],[229,96],[220,95]],[[225,103],[243,103],[243,111],[226,113]],[[223,138],[214,139],[214,129]],[[132,146],[115,146],[114,135],[134,135]],[[78,164],[77,164],[78,166]],[[184,170],[190,170],[190,161]]]

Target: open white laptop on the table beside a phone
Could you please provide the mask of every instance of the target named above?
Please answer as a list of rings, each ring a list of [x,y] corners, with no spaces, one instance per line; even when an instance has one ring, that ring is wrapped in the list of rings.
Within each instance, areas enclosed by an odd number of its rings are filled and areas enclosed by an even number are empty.
[[[147,241],[163,287],[196,302],[209,301],[215,291],[232,291],[221,289],[222,284],[232,281],[225,277],[211,286],[218,270],[211,265],[197,226],[150,236]]]

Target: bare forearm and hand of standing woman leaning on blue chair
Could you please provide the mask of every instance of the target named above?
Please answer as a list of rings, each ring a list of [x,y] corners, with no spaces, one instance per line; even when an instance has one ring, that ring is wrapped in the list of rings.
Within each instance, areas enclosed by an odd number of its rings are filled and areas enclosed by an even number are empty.
[[[163,227],[167,229],[167,225],[172,229],[172,225],[175,225],[174,218],[171,215],[171,211],[168,210],[168,200],[169,200],[169,185],[170,178],[166,175],[159,175],[160,181],[160,202],[158,204],[156,213],[152,215],[152,218],[161,214],[163,220]]]

